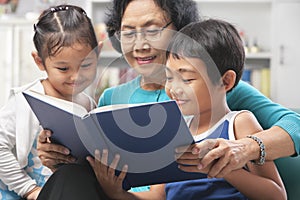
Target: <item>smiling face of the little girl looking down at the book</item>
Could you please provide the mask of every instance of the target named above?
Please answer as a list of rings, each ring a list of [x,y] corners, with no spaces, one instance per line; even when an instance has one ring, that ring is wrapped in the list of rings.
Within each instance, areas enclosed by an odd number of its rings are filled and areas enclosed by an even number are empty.
[[[55,56],[45,59],[47,72],[46,91],[54,91],[56,97],[72,100],[95,79],[97,55],[90,46],[76,43],[63,47]]]

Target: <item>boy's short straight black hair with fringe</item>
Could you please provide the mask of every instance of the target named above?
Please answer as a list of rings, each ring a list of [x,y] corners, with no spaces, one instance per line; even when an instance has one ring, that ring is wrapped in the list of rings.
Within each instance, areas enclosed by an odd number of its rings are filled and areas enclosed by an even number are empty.
[[[175,34],[171,40],[167,59],[199,58],[214,84],[228,70],[236,73],[235,87],[243,73],[245,52],[238,31],[228,22],[208,19],[191,23]]]

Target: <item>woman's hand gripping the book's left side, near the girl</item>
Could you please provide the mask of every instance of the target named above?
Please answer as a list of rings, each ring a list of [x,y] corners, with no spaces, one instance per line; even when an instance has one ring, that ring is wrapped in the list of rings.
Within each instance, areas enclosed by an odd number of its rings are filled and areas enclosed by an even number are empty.
[[[51,143],[51,135],[50,130],[42,130],[38,137],[38,156],[43,165],[55,171],[59,164],[74,163],[76,159],[70,155],[66,147]]]

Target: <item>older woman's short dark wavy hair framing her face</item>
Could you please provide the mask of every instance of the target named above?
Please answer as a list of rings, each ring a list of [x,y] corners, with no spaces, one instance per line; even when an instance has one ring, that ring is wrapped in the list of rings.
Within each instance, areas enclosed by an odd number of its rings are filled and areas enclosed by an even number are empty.
[[[113,0],[112,7],[107,13],[107,33],[113,47],[121,52],[120,42],[115,38],[116,31],[121,29],[123,14],[132,0]],[[170,18],[177,30],[187,24],[200,20],[197,4],[192,0],[153,0],[167,18]]]

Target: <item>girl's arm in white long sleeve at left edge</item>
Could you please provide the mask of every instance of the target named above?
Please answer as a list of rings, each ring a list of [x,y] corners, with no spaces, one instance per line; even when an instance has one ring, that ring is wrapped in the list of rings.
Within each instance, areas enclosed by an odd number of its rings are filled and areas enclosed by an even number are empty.
[[[36,181],[33,180],[23,169],[24,165],[20,164],[16,152],[18,147],[16,144],[16,98],[12,95],[7,104],[0,112],[0,177],[10,190],[15,191],[19,196],[25,195],[36,187]],[[18,102],[20,106],[24,106],[24,102]],[[22,120],[27,120],[30,113],[22,113]],[[29,128],[29,126],[26,126]],[[31,131],[34,131],[30,129]],[[38,127],[35,131],[38,130]],[[26,137],[30,137],[29,135]],[[30,144],[22,144],[22,148],[31,148]],[[27,149],[29,152],[30,149]]]

